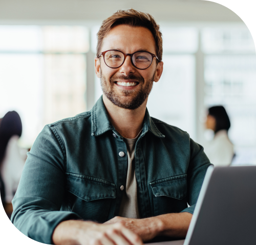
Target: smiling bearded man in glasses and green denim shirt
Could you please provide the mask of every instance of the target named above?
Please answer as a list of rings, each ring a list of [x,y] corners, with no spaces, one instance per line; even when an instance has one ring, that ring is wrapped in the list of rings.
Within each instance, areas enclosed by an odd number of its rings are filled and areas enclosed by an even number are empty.
[[[13,200],[12,223],[35,244],[185,237],[210,163],[186,132],[146,110],[161,59],[151,15],[118,11],[103,21],[95,58],[103,96],[42,130]]]

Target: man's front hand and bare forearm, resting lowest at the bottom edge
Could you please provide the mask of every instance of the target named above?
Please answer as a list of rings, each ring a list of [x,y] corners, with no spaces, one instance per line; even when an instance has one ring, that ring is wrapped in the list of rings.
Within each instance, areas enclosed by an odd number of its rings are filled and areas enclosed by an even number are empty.
[[[53,233],[54,244],[67,245],[142,245],[141,238],[117,224],[97,224],[82,220],[60,223]]]

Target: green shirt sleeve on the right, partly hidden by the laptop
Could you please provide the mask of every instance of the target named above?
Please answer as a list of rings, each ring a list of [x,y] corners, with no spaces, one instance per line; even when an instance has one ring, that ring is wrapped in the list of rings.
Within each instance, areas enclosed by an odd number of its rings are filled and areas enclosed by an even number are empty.
[[[207,168],[212,165],[203,146],[190,139],[190,161],[187,169],[187,203],[182,212],[194,213]]]

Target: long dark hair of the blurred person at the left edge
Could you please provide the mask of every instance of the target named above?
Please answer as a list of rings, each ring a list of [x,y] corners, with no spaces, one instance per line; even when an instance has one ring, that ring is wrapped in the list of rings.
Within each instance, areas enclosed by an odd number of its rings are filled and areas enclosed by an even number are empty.
[[[0,166],[5,156],[8,141],[13,135],[19,137],[22,135],[22,120],[16,111],[9,111],[0,123]]]

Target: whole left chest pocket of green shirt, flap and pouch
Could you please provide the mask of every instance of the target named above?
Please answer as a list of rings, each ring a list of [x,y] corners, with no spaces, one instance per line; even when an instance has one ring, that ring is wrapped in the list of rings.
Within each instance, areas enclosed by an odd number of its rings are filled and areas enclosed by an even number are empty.
[[[116,198],[115,184],[105,180],[66,174],[69,209],[84,220],[103,223],[108,219],[111,203]]]

